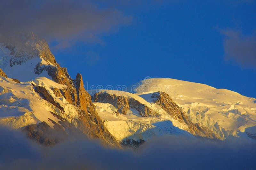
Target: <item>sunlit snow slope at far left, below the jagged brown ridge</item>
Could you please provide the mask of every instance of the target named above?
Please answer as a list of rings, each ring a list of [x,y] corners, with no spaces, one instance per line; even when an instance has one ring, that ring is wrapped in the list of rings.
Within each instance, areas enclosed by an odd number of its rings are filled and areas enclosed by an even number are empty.
[[[32,83],[45,87],[54,100],[60,103],[65,112],[42,99],[33,89]],[[45,77],[38,77],[33,81],[19,84],[10,78],[0,76],[0,124],[12,128],[22,128],[29,124],[46,122],[53,127],[48,118],[55,122],[60,120],[54,117],[51,112],[61,115],[75,124],[74,120],[78,117],[76,107],[68,103],[63,97],[56,97],[50,89],[52,87],[65,88],[65,85],[60,85]]]

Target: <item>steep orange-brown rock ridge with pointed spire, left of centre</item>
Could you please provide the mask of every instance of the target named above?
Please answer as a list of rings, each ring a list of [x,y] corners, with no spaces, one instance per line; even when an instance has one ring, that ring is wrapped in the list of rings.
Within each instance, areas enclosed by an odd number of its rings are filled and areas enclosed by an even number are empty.
[[[78,108],[80,117],[76,120],[77,128],[89,138],[99,138],[108,145],[120,147],[120,144],[109,133],[98,116],[96,108],[92,104],[91,96],[84,89],[82,75],[77,74],[76,79],[72,80],[66,68],[48,66],[44,69],[55,82],[67,86],[65,89],[54,89],[53,91],[54,94],[63,96],[69,103]]]

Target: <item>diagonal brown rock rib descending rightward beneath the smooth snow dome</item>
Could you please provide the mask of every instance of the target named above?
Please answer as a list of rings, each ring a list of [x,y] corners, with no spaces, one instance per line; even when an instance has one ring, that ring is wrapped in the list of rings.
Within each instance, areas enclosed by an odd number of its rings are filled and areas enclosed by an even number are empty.
[[[165,92],[155,92],[152,94],[152,102],[159,105],[170,116],[180,123],[188,125],[188,131],[200,137],[207,137],[212,139],[220,139],[215,133],[213,133],[208,127],[202,126],[198,123],[192,123],[186,113],[172,100],[172,98]]]

